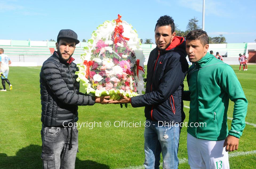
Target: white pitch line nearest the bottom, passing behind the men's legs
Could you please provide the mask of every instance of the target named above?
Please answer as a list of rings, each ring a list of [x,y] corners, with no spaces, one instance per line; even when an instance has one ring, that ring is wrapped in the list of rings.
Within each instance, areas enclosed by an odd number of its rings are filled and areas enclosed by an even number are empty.
[[[250,155],[250,154],[256,154],[256,150],[253,151],[236,151],[234,153],[229,153],[229,158],[231,157],[238,157],[238,156],[245,156],[245,155]],[[179,159],[179,164],[187,163],[188,159],[182,158]],[[162,163],[160,164],[162,166]],[[127,168],[118,168],[118,169],[144,169],[144,166],[130,166]]]

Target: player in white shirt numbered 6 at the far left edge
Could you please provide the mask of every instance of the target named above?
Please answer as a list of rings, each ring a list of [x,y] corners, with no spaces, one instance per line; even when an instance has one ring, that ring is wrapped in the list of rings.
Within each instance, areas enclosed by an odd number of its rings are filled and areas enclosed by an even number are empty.
[[[5,82],[9,84],[10,90],[13,89],[13,86],[11,85],[10,81],[7,79],[8,73],[9,73],[9,64],[11,64],[11,60],[8,57],[8,55],[4,54],[3,52],[4,50],[0,48],[0,70],[1,70],[0,72],[3,72],[3,76],[1,76],[3,89],[0,91],[6,92]]]

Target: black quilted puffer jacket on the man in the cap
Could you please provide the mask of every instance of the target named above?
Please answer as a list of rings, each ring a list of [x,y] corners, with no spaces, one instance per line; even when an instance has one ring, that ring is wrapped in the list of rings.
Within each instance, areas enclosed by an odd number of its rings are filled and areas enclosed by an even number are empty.
[[[79,93],[76,81],[78,67],[71,57],[69,63],[60,61],[57,52],[48,58],[40,72],[42,105],[41,121],[45,126],[63,127],[78,120],[79,105],[93,105],[95,98]]]

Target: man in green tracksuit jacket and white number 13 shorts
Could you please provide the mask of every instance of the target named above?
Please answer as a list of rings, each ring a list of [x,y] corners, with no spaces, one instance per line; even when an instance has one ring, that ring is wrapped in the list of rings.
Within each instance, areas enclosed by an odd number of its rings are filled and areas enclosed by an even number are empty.
[[[187,34],[186,52],[192,66],[187,73],[190,101],[187,151],[191,169],[229,168],[227,151],[238,149],[245,128],[248,102],[233,69],[207,53],[208,35],[195,30]],[[231,129],[227,126],[229,99],[234,102]],[[225,151],[226,150],[226,151]]]

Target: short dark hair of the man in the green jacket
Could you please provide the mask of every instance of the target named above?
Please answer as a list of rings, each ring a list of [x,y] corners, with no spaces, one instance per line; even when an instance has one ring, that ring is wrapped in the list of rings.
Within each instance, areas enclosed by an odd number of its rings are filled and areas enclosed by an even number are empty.
[[[203,46],[209,44],[209,38],[207,33],[201,29],[196,29],[189,32],[186,36],[186,40],[200,40]]]

